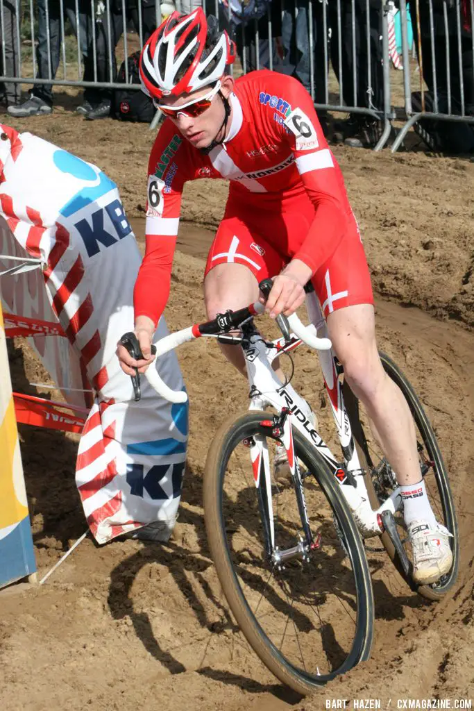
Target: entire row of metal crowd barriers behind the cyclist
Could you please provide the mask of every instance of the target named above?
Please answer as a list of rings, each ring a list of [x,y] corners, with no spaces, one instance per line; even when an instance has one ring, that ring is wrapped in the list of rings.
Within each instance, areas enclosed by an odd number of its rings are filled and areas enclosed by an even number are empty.
[[[385,0],[0,0],[0,81],[9,102],[18,100],[21,83],[40,93],[43,86],[48,97],[51,85],[84,87],[86,94],[138,89],[129,82],[127,63],[125,84],[117,82],[117,66],[143,45],[163,12],[202,4],[232,31],[244,73],[267,67],[295,74],[321,117],[344,112],[377,122],[376,150],[386,144],[393,120],[402,118],[392,146],[397,150],[419,119],[474,122],[474,0],[410,0],[427,87],[421,86],[415,106],[406,0],[397,1],[404,71],[397,109],[390,65],[394,4]]]

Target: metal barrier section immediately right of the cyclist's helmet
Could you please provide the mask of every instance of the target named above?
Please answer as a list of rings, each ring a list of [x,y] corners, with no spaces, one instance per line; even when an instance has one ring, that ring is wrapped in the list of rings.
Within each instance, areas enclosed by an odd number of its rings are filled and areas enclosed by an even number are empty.
[[[253,25],[236,32],[244,72],[265,66],[293,73],[320,117],[330,111],[381,121],[376,149],[384,146],[392,110],[382,0],[273,0]]]

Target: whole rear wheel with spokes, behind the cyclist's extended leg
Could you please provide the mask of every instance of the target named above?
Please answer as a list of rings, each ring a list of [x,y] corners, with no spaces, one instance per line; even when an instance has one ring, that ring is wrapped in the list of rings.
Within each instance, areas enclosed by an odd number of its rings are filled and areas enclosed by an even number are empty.
[[[426,417],[426,413],[421,406],[416,392],[392,358],[389,358],[389,355],[385,353],[380,353],[379,355],[385,372],[389,375],[389,378],[392,378],[394,383],[397,383],[400,390],[402,390],[411,410],[411,415],[413,415],[416,429],[416,444],[420,461],[420,473],[424,478],[426,493],[429,496],[431,508],[436,516],[436,520],[438,520],[438,523],[446,526],[449,533],[453,536],[453,538],[450,538],[451,550],[453,551],[453,565],[451,570],[446,575],[443,575],[436,583],[416,587],[411,576],[407,577],[404,573],[388,533],[383,533],[380,538],[389,557],[410,587],[416,589],[419,594],[427,599],[439,600],[456,582],[459,565],[458,523],[454,509],[453,495],[449,486],[448,472],[446,471],[443,456],[438,447],[436,435],[433,432],[428,417]],[[356,441],[360,464],[362,469],[365,470],[365,483],[367,484],[370,503],[372,504],[372,508],[378,508],[382,501],[397,487],[397,481],[392,467],[389,465],[387,459],[385,459],[379,445],[372,436],[369,418],[367,417],[365,408],[362,403],[357,400],[355,395],[352,394],[347,383],[344,384],[344,400],[348,410],[352,434]],[[395,520],[400,539],[404,543],[406,555],[408,555],[409,560],[411,560],[411,546],[407,545],[406,527],[401,512],[397,513]]]

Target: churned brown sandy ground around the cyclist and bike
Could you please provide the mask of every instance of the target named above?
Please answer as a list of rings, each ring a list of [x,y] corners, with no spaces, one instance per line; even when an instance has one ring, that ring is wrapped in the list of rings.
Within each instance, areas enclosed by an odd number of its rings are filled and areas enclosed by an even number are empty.
[[[117,181],[127,213],[143,218],[153,134],[144,125],[84,122],[77,100],[58,95],[50,117],[16,121],[101,166]],[[420,152],[393,156],[335,149],[360,221],[377,300],[379,343],[426,403],[451,472],[460,524],[458,585],[443,602],[412,594],[371,547],[376,602],[370,661],[301,700],[262,666],[230,618],[205,540],[202,474],[212,432],[244,405],[244,381],[213,343],[180,353],[190,394],[190,450],[183,503],[169,545],[131,540],[97,547],[87,538],[41,589],[0,596],[0,700],[7,711],[174,708],[325,708],[326,700],[474,696],[473,482],[474,165]],[[206,246],[225,203],[225,183],[186,188],[180,252],[166,319],[171,328],[203,320]],[[141,220],[136,219],[139,240]],[[197,228],[198,225],[198,228]],[[206,229],[208,228],[208,229]],[[414,308],[415,306],[419,309]],[[437,318],[433,318],[436,316]],[[47,376],[17,339],[17,390]],[[216,383],[215,373],[225,373]],[[296,358],[296,387],[322,427],[328,407],[314,358]],[[41,380],[44,382],[44,380]],[[205,432],[205,437],[203,433]],[[23,466],[40,575],[85,531],[74,484],[77,438],[21,427]]]

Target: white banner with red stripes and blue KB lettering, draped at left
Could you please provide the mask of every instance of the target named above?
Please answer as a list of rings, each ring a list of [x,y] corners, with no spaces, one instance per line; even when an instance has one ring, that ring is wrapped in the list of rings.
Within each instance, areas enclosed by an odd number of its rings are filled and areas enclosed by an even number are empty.
[[[96,166],[1,124],[0,168],[0,255],[41,260],[41,268],[1,278],[5,318],[58,324],[67,338],[39,333],[33,347],[70,404],[90,407],[82,390],[95,390],[76,465],[87,523],[99,543],[156,520],[172,529],[188,404],[163,401],[145,379],[134,402],[115,355],[120,336],[133,330],[141,262],[117,187]],[[11,264],[0,260],[0,271]],[[18,319],[7,323],[21,328]],[[161,319],[156,338],[167,332]],[[173,390],[184,387],[174,353],[157,367]]]

